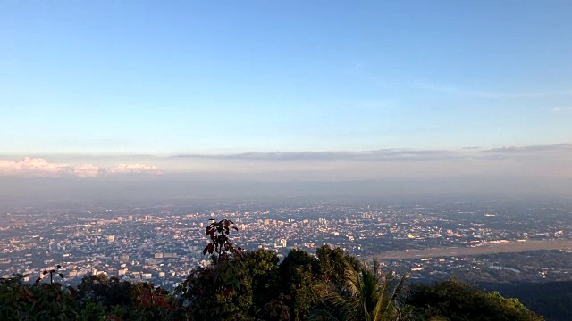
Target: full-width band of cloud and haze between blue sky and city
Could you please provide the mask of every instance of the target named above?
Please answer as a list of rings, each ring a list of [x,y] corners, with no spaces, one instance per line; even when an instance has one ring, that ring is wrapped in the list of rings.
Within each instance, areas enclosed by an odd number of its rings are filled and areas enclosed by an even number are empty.
[[[0,158],[0,210],[17,203],[62,200],[572,198],[570,143],[458,150],[36,156]]]

